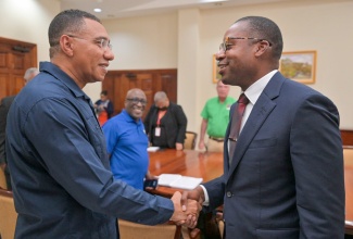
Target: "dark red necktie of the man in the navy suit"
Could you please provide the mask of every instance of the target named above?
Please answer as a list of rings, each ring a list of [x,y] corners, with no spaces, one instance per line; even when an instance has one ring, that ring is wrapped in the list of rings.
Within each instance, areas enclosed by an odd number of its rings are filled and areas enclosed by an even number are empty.
[[[236,150],[236,144],[237,144],[237,140],[239,137],[239,131],[240,131],[240,126],[241,126],[241,118],[242,115],[244,114],[247,104],[249,103],[249,99],[247,98],[247,96],[244,93],[241,93],[234,115],[231,117],[231,125],[230,125],[230,134],[229,134],[229,165],[231,164],[232,161],[232,154],[235,153]]]

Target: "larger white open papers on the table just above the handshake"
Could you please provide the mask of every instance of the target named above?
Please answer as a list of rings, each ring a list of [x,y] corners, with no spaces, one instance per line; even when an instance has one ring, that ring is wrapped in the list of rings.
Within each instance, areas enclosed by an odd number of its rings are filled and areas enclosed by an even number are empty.
[[[181,188],[181,189],[194,189],[202,183],[202,178],[181,176],[180,174],[161,174],[159,176],[159,185]]]

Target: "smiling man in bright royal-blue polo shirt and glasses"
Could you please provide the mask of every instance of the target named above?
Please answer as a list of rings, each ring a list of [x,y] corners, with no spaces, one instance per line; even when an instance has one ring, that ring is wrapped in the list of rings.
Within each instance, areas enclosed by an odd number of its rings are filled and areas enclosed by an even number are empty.
[[[103,126],[114,178],[137,189],[143,189],[144,177],[153,178],[148,173],[149,139],[141,121],[146,103],[142,90],[130,89],[126,95],[123,112]]]

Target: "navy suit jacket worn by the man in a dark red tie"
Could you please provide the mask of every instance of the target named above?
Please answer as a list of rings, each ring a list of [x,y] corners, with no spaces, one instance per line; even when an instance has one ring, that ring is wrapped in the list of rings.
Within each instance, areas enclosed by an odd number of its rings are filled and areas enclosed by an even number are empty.
[[[343,238],[339,113],[328,98],[276,73],[252,109],[231,166],[227,140],[224,149],[224,175],[204,186],[211,209],[224,203],[226,238]]]

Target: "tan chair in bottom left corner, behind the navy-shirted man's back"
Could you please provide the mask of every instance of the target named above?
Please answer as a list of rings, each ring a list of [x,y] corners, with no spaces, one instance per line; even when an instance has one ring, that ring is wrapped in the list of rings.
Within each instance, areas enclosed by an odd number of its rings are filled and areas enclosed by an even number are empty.
[[[14,238],[17,213],[11,191],[0,189],[0,238]]]

